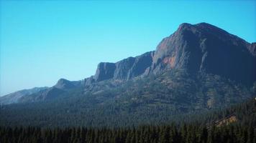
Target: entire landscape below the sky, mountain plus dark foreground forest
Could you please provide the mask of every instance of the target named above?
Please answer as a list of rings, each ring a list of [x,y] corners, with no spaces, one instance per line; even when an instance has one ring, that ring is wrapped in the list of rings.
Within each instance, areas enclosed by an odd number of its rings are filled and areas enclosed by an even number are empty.
[[[0,142],[256,142],[255,65],[255,44],[180,24],[155,51],[1,97]]]

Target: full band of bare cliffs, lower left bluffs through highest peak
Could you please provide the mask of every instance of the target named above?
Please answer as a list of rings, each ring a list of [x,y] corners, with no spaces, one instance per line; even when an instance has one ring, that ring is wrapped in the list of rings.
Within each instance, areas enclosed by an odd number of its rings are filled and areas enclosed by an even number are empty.
[[[129,57],[116,63],[100,63],[96,82],[104,79],[131,79],[172,69],[190,73],[218,74],[252,84],[256,80],[255,43],[206,23],[180,24],[163,39],[156,51]]]

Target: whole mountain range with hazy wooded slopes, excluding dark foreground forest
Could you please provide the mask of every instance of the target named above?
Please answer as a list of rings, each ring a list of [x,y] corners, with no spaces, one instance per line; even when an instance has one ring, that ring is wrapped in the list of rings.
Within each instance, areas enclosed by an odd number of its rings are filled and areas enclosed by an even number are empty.
[[[211,24],[180,24],[155,51],[116,63],[101,62],[91,77],[73,82],[60,79],[53,87],[0,97],[1,104],[13,106],[12,111],[6,107],[9,116],[2,122],[14,124],[9,117],[16,107],[26,106],[22,103],[31,103],[26,108],[35,112],[45,104],[49,109],[58,107],[53,110],[60,117],[77,117],[74,120],[85,125],[99,124],[104,119],[111,124],[113,118],[133,124],[136,117],[141,122],[164,122],[173,114],[229,106],[256,94],[255,48],[256,43],[250,44]],[[93,121],[79,120],[89,115]],[[37,119],[42,122],[40,117]],[[65,118],[59,121],[69,122]],[[48,120],[46,124],[50,124]]]

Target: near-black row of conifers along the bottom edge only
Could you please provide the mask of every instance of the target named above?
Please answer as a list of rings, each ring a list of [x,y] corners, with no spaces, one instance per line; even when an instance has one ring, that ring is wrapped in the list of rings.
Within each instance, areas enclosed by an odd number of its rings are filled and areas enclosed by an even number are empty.
[[[0,142],[1,143],[77,143],[77,142],[183,142],[183,143],[210,143],[210,142],[254,142],[255,132],[250,127],[241,127],[237,124],[212,127],[207,130],[206,127],[198,127],[196,125],[188,124],[186,134],[182,129],[175,131],[175,125],[171,126],[143,126],[136,129],[86,129],[86,128],[65,128],[65,129],[41,129],[35,127],[19,127],[19,128],[0,128]],[[181,127],[183,128],[183,127]],[[152,129],[154,132],[152,132]],[[81,133],[83,131],[83,133]],[[238,132],[238,134],[233,134]],[[240,133],[242,132],[242,133]],[[170,134],[172,134],[170,136]],[[208,137],[205,137],[209,134]],[[247,134],[253,134],[248,138]]]

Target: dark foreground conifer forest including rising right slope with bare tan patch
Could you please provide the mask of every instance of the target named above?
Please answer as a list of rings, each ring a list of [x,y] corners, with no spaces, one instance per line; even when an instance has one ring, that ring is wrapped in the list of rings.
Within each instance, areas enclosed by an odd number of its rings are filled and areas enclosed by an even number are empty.
[[[137,127],[0,127],[0,142],[256,142],[255,99],[204,116]]]

